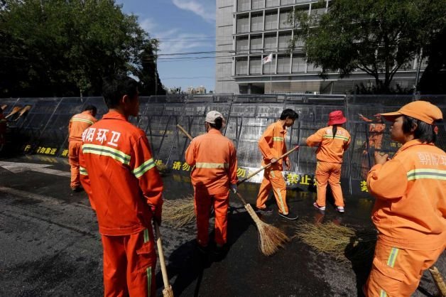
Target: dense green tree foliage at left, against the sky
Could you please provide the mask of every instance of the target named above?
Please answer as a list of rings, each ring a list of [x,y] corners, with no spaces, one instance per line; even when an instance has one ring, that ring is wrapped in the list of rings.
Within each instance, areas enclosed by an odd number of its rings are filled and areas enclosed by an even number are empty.
[[[0,97],[99,95],[103,76],[126,73],[143,85],[143,59],[155,65],[158,41],[114,0],[0,6]]]

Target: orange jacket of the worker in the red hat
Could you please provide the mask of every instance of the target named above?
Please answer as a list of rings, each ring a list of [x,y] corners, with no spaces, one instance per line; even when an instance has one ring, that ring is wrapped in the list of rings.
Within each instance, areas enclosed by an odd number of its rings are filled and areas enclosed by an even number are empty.
[[[317,161],[342,163],[342,155],[349,148],[350,141],[349,131],[337,127],[335,138],[333,138],[333,126],[317,130],[307,139],[308,146],[319,146],[316,150]]]

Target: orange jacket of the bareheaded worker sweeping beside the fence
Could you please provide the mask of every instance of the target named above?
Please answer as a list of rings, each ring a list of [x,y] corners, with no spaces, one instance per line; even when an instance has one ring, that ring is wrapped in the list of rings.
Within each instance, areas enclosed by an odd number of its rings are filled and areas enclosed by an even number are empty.
[[[285,136],[286,129],[283,129],[280,121],[276,121],[266,128],[259,139],[259,149],[263,155],[262,166],[268,165],[272,158],[278,158],[286,153]],[[282,171],[282,164],[286,159],[288,156],[278,160],[271,166],[272,170]]]

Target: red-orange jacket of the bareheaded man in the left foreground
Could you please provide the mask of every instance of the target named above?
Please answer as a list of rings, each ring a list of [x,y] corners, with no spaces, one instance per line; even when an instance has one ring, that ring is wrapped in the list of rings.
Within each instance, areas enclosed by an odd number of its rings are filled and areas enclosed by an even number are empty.
[[[82,185],[97,213],[99,232],[129,235],[161,218],[163,181],[146,134],[118,112],[105,114],[82,135]]]

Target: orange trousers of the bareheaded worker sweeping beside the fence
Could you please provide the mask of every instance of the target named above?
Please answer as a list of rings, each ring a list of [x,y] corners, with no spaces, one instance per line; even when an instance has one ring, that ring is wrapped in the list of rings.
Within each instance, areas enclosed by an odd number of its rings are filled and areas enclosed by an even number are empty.
[[[283,215],[288,215],[286,185],[282,171],[273,170],[271,168],[265,169],[265,172],[263,173],[263,180],[260,185],[259,194],[257,195],[256,207],[259,209],[266,207],[265,203],[266,200],[268,200],[271,188],[273,189],[279,212]]]

